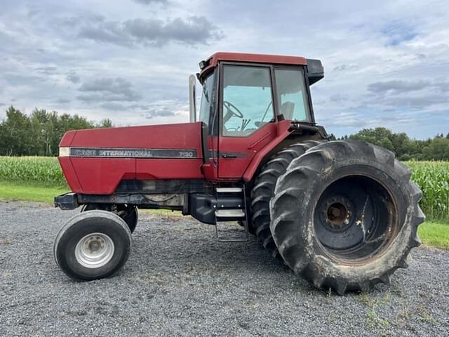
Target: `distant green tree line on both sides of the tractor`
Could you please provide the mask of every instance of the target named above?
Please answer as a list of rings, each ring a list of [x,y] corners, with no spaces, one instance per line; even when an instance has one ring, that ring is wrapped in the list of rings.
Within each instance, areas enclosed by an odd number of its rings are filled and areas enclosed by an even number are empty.
[[[58,144],[66,131],[112,126],[110,119],[93,124],[78,114],[58,114],[36,108],[28,115],[11,106],[6,110],[6,118],[0,123],[0,155],[57,156]],[[336,138],[331,136],[331,139]],[[449,133],[417,140],[406,133],[393,133],[388,128],[364,128],[354,135],[339,139],[366,140],[386,147],[404,161],[449,160]]]

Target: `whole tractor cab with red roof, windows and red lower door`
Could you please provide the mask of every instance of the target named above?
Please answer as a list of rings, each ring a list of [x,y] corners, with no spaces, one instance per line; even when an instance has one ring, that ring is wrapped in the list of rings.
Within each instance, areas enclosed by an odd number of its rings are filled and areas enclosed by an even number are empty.
[[[215,53],[199,67],[201,105],[196,113],[191,104],[190,116],[203,123],[206,178],[241,178],[249,167],[249,180],[251,161],[256,157],[253,166],[260,164],[291,124],[314,127],[309,86],[323,78],[321,61]]]

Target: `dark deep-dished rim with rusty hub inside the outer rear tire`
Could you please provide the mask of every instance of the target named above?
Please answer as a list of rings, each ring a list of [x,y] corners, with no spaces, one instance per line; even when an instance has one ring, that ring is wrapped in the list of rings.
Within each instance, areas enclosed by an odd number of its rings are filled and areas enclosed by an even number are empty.
[[[330,184],[316,204],[316,237],[328,255],[338,260],[373,256],[387,242],[394,218],[389,195],[375,180],[347,176]]]

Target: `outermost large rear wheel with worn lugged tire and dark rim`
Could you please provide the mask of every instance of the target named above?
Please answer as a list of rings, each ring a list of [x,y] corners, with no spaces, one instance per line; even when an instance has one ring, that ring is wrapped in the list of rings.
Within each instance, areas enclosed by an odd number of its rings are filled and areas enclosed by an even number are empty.
[[[333,141],[292,161],[271,202],[286,264],[317,288],[368,291],[407,267],[424,221],[420,189],[389,150]]]

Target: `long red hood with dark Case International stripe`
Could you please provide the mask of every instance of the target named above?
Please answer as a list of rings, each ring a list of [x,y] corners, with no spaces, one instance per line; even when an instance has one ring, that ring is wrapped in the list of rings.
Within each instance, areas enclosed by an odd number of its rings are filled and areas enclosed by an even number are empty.
[[[201,122],[69,131],[60,142],[73,192],[111,194],[121,180],[201,179]]]

